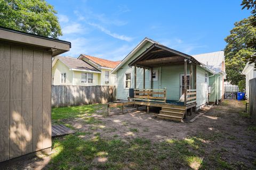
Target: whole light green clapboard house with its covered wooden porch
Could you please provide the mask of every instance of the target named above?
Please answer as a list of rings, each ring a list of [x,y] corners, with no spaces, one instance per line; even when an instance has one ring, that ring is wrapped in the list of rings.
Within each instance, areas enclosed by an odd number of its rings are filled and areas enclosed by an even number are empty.
[[[191,56],[145,38],[111,73],[117,99],[162,107],[158,117],[182,120],[187,109],[221,101],[225,60],[223,52]]]

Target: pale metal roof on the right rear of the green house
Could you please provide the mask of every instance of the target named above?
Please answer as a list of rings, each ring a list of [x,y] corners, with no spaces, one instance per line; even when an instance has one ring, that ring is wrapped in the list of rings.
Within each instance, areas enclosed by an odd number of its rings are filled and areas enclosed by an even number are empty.
[[[222,68],[222,62],[225,62],[225,55],[223,51],[191,56],[193,56],[198,62],[210,67],[210,69],[215,72],[225,72],[225,66]]]

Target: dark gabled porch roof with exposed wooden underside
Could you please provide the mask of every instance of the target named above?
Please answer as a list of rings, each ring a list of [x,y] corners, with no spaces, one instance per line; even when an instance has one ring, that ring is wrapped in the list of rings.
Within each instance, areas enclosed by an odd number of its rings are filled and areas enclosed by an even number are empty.
[[[171,64],[182,64],[187,59],[195,64],[199,63],[194,57],[159,44],[153,44],[129,63],[129,66],[154,67]]]

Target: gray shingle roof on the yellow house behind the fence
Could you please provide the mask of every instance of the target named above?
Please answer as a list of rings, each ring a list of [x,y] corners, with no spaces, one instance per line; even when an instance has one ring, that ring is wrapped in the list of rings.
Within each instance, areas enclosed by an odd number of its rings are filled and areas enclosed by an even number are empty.
[[[89,70],[89,71],[99,71],[95,67],[91,66],[90,64],[78,60],[73,57],[62,57],[62,56],[57,56],[57,58],[63,62],[65,65],[69,67],[69,69],[79,69],[79,70]]]

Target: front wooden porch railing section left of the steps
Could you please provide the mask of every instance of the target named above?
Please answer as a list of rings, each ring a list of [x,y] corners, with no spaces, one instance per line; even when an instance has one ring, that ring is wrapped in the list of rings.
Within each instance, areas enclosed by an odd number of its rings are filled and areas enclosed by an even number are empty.
[[[159,95],[159,96],[154,96]],[[166,103],[166,88],[164,89],[134,89],[134,100],[155,101]]]

